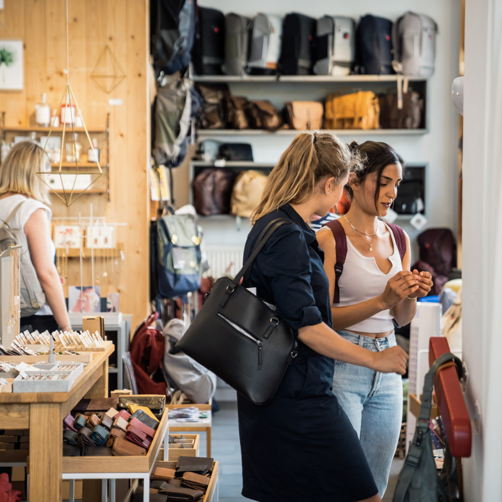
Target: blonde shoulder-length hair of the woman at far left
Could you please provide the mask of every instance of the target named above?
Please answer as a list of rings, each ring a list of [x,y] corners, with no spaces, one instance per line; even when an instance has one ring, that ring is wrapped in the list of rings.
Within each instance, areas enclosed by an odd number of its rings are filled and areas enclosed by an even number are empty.
[[[32,141],[16,143],[0,166],[0,195],[20,193],[49,205],[49,187],[36,174],[44,170],[43,155],[43,148]]]

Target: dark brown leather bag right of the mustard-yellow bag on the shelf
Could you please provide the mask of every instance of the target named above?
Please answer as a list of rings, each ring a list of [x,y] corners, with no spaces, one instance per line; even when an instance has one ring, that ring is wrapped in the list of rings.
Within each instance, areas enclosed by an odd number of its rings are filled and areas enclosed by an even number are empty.
[[[382,129],[418,129],[422,126],[424,100],[416,91],[403,93],[403,107],[398,108],[398,95],[379,95],[380,127]]]

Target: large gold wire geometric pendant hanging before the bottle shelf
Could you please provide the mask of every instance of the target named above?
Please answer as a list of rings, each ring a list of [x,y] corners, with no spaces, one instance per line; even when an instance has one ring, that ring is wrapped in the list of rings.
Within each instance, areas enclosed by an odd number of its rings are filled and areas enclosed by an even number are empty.
[[[99,165],[98,156],[94,151],[94,147],[92,145],[91,139],[89,138],[89,133],[85,126],[85,122],[82,117],[82,113],[80,112],[80,108],[78,107],[77,101],[73,94],[73,90],[70,86],[70,77],[69,77],[69,59],[68,59],[68,0],[66,1],[66,69],[64,70],[66,73],[66,87],[64,89],[63,95],[61,97],[61,101],[59,102],[58,109],[64,109],[64,115],[62,116],[63,122],[63,134],[61,137],[61,151],[59,156],[59,168],[57,174],[60,177],[61,185],[63,187],[63,195],[61,196],[59,193],[54,191],[50,184],[48,183],[48,176],[51,175],[52,168],[48,170],[45,168],[46,166],[46,148],[49,143],[49,138],[51,137],[52,130],[54,128],[54,121],[56,120],[57,115],[54,116],[54,120],[52,121],[51,128],[49,130],[49,135],[45,141],[44,151],[40,156],[38,166],[37,166],[37,176],[38,178],[45,183],[49,188],[51,188],[52,192],[55,193],[59,199],[61,199],[67,206],[70,206],[75,202],[81,195],[84,193],[102,174],[101,166]],[[64,103],[64,104],[63,104]],[[75,109],[75,112],[73,112]],[[82,150],[82,146],[76,139],[75,133],[75,123],[78,122],[78,118],[82,122],[82,129],[84,130],[87,141],[89,142],[89,149],[92,150],[93,157],[95,162],[92,163],[92,167],[83,167],[80,161],[80,152]],[[63,155],[63,148],[65,146],[65,133],[66,126],[71,126],[71,131],[68,131],[68,136],[66,141],[66,152]],[[68,129],[70,129],[68,127]],[[69,140],[69,141],[68,141]],[[68,148],[69,147],[69,148]],[[87,149],[85,149],[87,151]],[[66,159],[66,162],[63,162],[63,159]],[[65,184],[63,183],[62,175],[74,175],[75,178],[73,180],[73,184],[71,185],[71,190],[68,192],[65,189]],[[77,176],[86,175],[90,176],[90,183],[81,190],[77,195],[74,193],[75,182],[77,181]],[[45,179],[44,179],[45,178]]]

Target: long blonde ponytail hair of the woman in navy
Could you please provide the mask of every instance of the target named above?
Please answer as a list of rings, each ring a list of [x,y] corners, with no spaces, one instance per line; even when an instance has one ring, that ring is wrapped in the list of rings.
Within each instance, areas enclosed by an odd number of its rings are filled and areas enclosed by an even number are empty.
[[[334,134],[300,133],[270,173],[251,223],[284,204],[309,200],[322,179],[334,177],[333,184],[339,185],[350,170],[359,168],[357,154]]]

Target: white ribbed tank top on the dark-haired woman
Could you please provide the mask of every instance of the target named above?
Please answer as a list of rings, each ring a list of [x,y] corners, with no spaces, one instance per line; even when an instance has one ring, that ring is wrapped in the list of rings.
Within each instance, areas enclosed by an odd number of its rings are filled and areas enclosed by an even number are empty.
[[[354,303],[361,303],[370,298],[379,296],[385,290],[387,281],[400,270],[403,270],[399,249],[394,239],[394,232],[384,222],[391,233],[394,252],[389,257],[392,264],[391,270],[384,274],[376,265],[372,257],[362,256],[354,245],[347,239],[347,256],[343,264],[343,272],[338,280],[340,289],[340,303],[336,307],[346,307]],[[366,333],[382,333],[394,328],[392,315],[389,309],[382,310],[375,315],[344,329]]]

